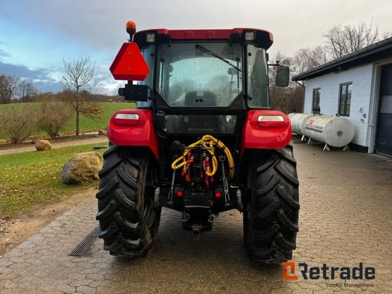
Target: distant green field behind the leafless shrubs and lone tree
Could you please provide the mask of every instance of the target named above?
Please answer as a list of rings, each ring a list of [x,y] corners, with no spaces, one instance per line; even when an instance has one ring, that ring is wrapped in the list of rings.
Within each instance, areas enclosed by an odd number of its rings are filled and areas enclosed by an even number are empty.
[[[39,102],[37,103],[24,103],[24,104],[31,104],[32,106],[38,105]],[[5,109],[6,107],[12,107],[16,106],[18,107],[19,105],[22,105],[22,103],[13,103],[13,104],[0,104],[0,111],[2,109]],[[86,131],[94,131],[98,129],[103,129],[107,127],[107,124],[109,123],[110,118],[113,116],[113,114],[121,109],[130,109],[130,108],[135,108],[134,103],[125,103],[125,102],[108,102],[105,103],[105,113],[103,116],[100,118],[98,121],[94,121],[90,118],[86,118],[83,115],[80,115],[80,131],[86,132]],[[65,126],[65,128],[62,130],[62,132],[75,132],[76,131],[76,114],[74,114],[73,118],[70,120],[70,122]],[[36,135],[44,135],[45,132],[43,131],[38,131]],[[1,138],[0,138],[1,139]]]

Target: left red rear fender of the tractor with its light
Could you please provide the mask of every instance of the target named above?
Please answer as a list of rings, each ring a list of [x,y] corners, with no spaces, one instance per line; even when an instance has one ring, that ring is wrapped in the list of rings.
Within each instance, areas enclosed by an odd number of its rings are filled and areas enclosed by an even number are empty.
[[[148,109],[117,111],[109,121],[107,138],[114,145],[147,146],[159,161],[158,137],[153,122],[152,112]]]

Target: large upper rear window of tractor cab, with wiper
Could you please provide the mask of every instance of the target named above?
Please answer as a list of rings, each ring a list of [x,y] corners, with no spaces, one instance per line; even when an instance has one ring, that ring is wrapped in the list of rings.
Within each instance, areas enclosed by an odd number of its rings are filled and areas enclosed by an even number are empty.
[[[158,47],[156,89],[171,107],[228,107],[242,91],[242,73],[238,69],[242,70],[239,44],[162,44]]]

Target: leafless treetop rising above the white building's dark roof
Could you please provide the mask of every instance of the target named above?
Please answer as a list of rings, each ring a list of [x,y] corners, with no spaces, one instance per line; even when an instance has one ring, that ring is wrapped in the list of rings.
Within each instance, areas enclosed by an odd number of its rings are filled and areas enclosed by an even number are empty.
[[[340,58],[392,36],[391,32],[380,33],[378,24],[373,29],[372,24],[373,20],[369,27],[364,22],[359,22],[358,27],[338,24],[322,34],[330,58]]]

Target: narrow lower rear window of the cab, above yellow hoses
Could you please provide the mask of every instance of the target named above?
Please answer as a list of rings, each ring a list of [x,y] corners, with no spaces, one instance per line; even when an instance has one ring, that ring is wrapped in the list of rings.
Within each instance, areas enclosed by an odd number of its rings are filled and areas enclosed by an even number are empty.
[[[234,134],[237,116],[233,115],[166,115],[169,134]]]

